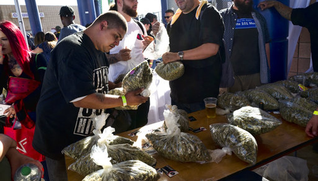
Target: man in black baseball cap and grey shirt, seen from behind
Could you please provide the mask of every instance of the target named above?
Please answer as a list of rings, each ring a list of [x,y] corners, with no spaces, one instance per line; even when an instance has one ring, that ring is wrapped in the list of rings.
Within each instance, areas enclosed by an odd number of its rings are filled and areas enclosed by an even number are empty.
[[[60,31],[58,42],[60,42],[64,37],[85,30],[84,26],[74,23],[74,9],[71,6],[62,6],[59,15],[64,27]]]

